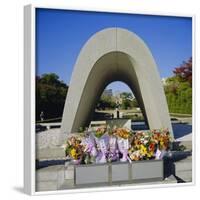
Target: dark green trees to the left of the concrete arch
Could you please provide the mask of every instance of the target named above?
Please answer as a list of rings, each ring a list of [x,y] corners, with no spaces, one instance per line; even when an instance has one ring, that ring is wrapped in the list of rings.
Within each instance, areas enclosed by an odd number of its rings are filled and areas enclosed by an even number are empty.
[[[68,86],[54,74],[36,77],[36,120],[44,112],[44,119],[62,116]]]

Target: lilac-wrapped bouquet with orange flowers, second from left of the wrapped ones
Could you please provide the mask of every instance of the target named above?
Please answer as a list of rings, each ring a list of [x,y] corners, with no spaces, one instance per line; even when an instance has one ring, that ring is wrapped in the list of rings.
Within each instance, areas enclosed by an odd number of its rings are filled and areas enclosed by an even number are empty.
[[[100,127],[94,132],[94,138],[97,144],[98,155],[96,156],[96,163],[106,163],[107,153],[109,147],[109,135],[106,127]]]

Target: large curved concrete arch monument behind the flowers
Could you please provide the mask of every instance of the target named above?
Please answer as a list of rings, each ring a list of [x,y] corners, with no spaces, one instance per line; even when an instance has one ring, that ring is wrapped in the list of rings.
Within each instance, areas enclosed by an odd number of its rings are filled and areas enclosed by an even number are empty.
[[[113,81],[133,91],[150,129],[168,128],[169,111],[156,63],[144,41],[122,28],[94,34],[75,63],[66,97],[61,132],[76,132],[88,125],[104,88]]]

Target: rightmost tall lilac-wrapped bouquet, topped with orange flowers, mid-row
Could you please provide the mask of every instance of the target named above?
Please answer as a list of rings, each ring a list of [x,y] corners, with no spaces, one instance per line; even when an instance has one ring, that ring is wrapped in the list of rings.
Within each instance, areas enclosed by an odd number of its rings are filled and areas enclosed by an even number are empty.
[[[122,154],[121,162],[128,160],[128,149],[129,149],[129,138],[131,131],[127,128],[116,128],[114,129],[114,135],[117,136],[117,144],[120,153]]]

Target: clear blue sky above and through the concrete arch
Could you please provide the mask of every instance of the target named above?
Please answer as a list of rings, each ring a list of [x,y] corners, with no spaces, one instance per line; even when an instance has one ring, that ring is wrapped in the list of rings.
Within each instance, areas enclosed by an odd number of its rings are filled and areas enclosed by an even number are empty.
[[[108,27],[135,32],[150,48],[161,78],[192,56],[192,19],[153,15],[37,9],[37,74],[56,73],[69,84],[76,58],[85,42]],[[119,82],[108,86],[128,90]]]

